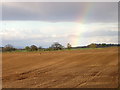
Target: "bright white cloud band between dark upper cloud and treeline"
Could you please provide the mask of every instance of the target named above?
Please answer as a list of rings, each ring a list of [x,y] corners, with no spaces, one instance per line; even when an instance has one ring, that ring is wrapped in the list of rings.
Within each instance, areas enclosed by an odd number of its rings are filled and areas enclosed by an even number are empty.
[[[3,21],[2,26],[0,35],[3,45],[14,43],[16,46],[25,46],[24,41],[43,47],[44,43],[46,43],[45,47],[48,47],[53,42],[60,42],[64,45],[70,42],[73,46],[87,45],[97,41],[117,43],[113,36],[117,37],[118,34],[117,23]],[[77,40],[77,44],[74,44],[73,40]]]

